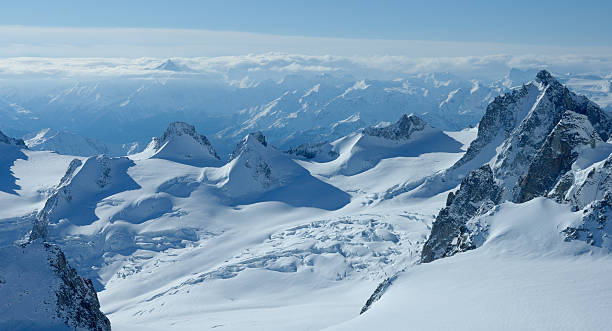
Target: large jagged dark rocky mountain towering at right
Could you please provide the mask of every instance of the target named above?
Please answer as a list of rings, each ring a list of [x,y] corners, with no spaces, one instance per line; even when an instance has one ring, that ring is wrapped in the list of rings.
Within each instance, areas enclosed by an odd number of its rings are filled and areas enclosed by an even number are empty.
[[[579,200],[576,208],[581,208],[605,196],[601,189],[604,185],[597,185],[597,192],[589,198],[578,192],[593,191],[581,188],[598,182],[588,177],[605,182],[598,172],[606,172],[606,163],[599,167],[593,164],[601,163],[612,151],[606,143],[611,128],[607,113],[587,98],[570,92],[544,70],[510,96],[496,98],[487,108],[478,138],[466,155],[442,174],[446,184],[452,185],[452,176],[458,175],[453,171],[469,165],[463,170],[466,171],[484,163],[490,169],[486,180],[474,180],[483,176],[485,168],[468,172],[468,182],[462,181],[454,198],[449,199],[450,205],[434,221],[421,261],[431,262],[475,248],[466,224],[503,201],[521,203],[550,196],[559,202]],[[592,175],[583,179],[587,171]],[[581,184],[575,183],[576,178]],[[479,192],[490,194],[486,203],[481,203],[483,196]],[[470,198],[459,199],[466,196]]]

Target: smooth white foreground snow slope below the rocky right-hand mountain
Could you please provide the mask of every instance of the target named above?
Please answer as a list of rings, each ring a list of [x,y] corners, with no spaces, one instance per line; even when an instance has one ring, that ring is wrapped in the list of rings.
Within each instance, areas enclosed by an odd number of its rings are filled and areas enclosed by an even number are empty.
[[[369,311],[330,330],[607,329],[612,258],[560,233],[580,216],[544,198],[506,203],[485,216],[482,247],[408,268]]]

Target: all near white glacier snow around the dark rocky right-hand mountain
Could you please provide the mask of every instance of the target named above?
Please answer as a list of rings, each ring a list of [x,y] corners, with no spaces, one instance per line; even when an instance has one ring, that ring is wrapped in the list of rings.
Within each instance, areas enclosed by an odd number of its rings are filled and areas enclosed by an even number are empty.
[[[339,156],[328,162],[291,159],[257,134],[223,166],[146,151],[78,158],[67,183],[86,208],[58,209],[50,241],[94,280],[114,330],[605,329],[612,259],[563,241],[579,220],[567,206],[504,204],[479,219],[482,247],[415,265],[447,192],[388,192],[447,169],[474,138],[433,134],[351,134],[331,143]],[[5,246],[27,234],[73,157],[0,148],[12,153],[0,154]]]

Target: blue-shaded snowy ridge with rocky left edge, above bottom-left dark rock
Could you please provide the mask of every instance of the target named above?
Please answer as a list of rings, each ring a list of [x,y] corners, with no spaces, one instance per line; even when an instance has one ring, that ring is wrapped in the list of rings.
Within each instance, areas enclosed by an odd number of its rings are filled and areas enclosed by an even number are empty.
[[[96,204],[105,197],[139,188],[127,174],[134,162],[126,157],[74,159],[55,190],[38,213],[30,240],[46,239],[50,224],[67,219],[74,225],[91,224]]]

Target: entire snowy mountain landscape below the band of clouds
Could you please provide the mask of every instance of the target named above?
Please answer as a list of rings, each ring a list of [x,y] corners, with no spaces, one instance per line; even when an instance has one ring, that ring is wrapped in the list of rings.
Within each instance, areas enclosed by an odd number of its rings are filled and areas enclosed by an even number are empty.
[[[13,61],[2,330],[612,328],[610,73]]]

